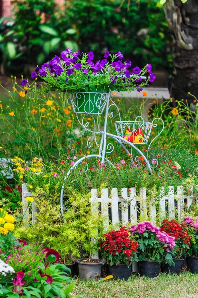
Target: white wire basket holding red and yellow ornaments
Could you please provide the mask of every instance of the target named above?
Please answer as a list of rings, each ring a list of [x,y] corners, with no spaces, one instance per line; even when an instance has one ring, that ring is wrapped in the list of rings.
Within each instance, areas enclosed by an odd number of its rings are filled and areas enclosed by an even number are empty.
[[[135,121],[115,121],[117,135],[133,144],[147,144],[153,127],[153,123],[145,122],[141,116]]]

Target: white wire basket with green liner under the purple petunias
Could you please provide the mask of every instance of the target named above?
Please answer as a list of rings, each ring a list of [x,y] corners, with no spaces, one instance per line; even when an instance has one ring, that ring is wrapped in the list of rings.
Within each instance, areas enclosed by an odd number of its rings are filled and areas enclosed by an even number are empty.
[[[74,92],[70,96],[72,108],[77,114],[102,114],[109,93]]]

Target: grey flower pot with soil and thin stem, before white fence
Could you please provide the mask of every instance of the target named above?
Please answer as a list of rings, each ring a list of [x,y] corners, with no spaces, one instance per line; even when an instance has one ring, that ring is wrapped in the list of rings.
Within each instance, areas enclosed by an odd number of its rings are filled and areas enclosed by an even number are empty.
[[[102,264],[104,262],[102,260],[97,260],[98,263],[95,263],[95,259],[91,259],[91,262],[85,262],[85,260],[88,259],[77,260],[80,279],[99,280],[101,276]]]

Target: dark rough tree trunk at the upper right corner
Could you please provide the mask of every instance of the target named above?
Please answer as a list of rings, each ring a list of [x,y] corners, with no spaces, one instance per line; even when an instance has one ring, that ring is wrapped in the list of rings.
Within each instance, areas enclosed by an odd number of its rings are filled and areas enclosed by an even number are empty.
[[[198,98],[198,0],[167,0],[165,15],[173,30],[173,82],[171,96],[192,102]]]

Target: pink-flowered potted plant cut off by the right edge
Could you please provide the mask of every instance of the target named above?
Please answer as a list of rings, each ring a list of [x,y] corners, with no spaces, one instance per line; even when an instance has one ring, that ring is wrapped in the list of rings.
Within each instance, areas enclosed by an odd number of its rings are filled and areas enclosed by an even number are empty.
[[[186,258],[187,268],[191,273],[198,273],[198,217],[187,216],[184,218],[184,222],[187,224],[191,242]]]

